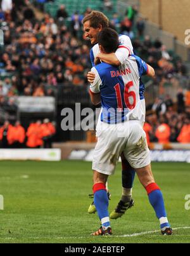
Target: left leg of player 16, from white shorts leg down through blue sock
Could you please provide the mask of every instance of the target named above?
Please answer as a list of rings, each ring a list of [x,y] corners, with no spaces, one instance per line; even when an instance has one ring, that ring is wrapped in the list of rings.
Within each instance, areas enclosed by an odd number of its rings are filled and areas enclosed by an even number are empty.
[[[106,181],[108,175],[113,175],[115,172],[118,158],[126,143],[124,138],[118,137],[117,128],[117,125],[110,126],[102,123],[92,161],[92,170],[94,170],[94,205],[98,211],[102,226],[105,226],[102,231],[106,228],[106,225],[110,226]],[[105,220],[108,224],[104,224]],[[94,232],[94,235],[96,234],[99,234],[99,232]]]

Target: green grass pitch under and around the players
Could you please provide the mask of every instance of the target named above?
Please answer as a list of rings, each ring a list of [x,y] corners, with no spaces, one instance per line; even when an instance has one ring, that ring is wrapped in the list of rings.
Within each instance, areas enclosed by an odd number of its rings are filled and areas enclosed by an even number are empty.
[[[146,191],[136,177],[135,206],[111,221],[113,236],[91,237],[89,233],[99,228],[97,215],[87,213],[91,163],[1,161],[0,243],[190,243],[190,210],[185,209],[184,199],[190,194],[190,165],[153,163],[152,168],[174,236],[160,234]],[[109,187],[111,212],[122,191],[120,164]]]

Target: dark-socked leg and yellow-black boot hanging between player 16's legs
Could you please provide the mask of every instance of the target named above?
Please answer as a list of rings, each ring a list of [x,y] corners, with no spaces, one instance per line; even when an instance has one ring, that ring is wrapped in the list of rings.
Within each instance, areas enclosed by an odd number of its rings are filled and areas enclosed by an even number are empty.
[[[110,213],[110,219],[118,219],[134,205],[132,199],[132,185],[135,177],[135,170],[129,165],[124,154],[121,154],[122,159],[122,198],[117,204],[117,207]]]

